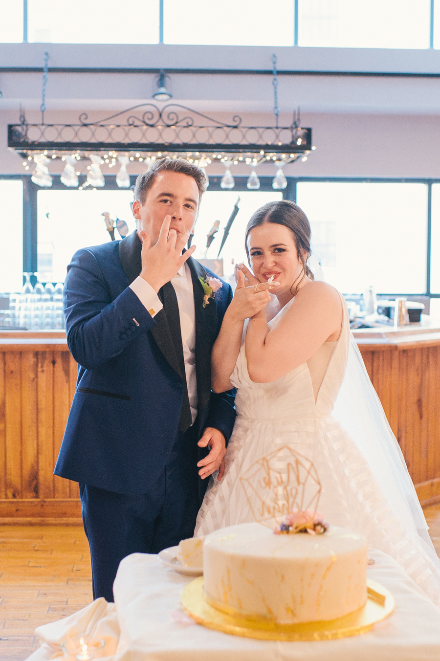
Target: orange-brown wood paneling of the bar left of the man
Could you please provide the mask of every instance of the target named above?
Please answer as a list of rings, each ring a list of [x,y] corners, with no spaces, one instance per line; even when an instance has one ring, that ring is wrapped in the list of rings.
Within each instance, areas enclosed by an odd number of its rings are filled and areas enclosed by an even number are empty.
[[[65,344],[0,346],[0,520],[81,518],[78,485],[54,476],[76,377]]]

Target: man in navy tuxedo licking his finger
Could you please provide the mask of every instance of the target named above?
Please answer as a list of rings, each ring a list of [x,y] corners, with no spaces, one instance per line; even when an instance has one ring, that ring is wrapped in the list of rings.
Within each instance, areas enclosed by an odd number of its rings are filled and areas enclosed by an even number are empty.
[[[94,598],[108,602],[124,557],[192,537],[234,424],[210,362],[231,288],[206,301],[200,278],[214,274],[184,251],[204,190],[195,165],[155,161],[136,181],[137,232],[78,251],[67,269],[79,369],[54,472],[79,482]]]

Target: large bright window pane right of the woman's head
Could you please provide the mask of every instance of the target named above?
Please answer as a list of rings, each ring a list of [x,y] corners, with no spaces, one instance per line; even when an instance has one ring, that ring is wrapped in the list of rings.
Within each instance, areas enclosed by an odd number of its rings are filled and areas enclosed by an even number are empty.
[[[297,202],[324,277],[341,292],[426,291],[426,184],[299,182]]]

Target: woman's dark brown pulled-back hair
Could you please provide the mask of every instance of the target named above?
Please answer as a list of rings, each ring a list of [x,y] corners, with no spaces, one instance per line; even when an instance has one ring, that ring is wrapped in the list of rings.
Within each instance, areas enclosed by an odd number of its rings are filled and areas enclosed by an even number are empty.
[[[262,207],[260,207],[260,209],[257,209],[248,222],[248,226],[246,227],[246,237],[244,238],[244,245],[246,247],[246,254],[248,256],[249,262],[249,232],[251,229],[254,229],[254,227],[264,225],[264,223],[284,225],[284,227],[290,229],[291,233],[293,234],[293,241],[295,241],[295,246],[297,247],[298,258],[303,264],[303,274],[301,276],[301,280],[296,285],[295,290],[292,292],[293,295],[295,295],[305,276],[311,280],[314,280],[314,276],[307,264],[307,260],[309,259],[312,252],[310,246],[312,231],[309,219],[303,210],[300,209],[299,206],[295,204],[295,202],[290,202],[290,200],[277,200],[277,202],[268,202],[267,204],[264,204]],[[307,254],[306,258],[304,257],[303,253]],[[295,282],[293,285],[295,285]]]

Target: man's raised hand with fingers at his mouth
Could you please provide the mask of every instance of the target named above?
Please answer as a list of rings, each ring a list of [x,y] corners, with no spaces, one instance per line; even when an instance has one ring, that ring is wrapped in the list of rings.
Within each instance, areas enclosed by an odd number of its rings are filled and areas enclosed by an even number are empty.
[[[166,215],[162,223],[159,239],[151,245],[151,237],[145,231],[138,233],[142,241],[142,270],[141,278],[159,292],[166,282],[170,282],[188,257],[194,253],[196,246],[191,246],[184,254],[182,250],[190,236],[189,232],[177,233],[170,229],[171,216]]]

